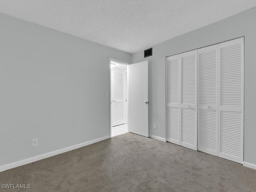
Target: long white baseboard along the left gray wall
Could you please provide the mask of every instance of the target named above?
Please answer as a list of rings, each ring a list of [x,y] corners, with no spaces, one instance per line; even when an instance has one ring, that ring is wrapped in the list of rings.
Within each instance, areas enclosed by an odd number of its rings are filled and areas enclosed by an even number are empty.
[[[24,159],[24,160],[20,160],[20,161],[17,161],[17,162],[13,162],[13,163],[10,163],[10,164],[2,165],[2,166],[0,166],[0,172],[8,170],[8,169],[15,168],[15,167],[18,167],[18,166],[22,166],[22,165],[25,165],[25,164],[29,164],[29,163],[32,163],[32,162],[35,162],[35,161],[38,161],[38,160],[41,160],[41,159],[45,159],[45,158],[48,158],[48,157],[51,157],[51,156],[54,156],[54,155],[65,153],[65,152],[68,152],[68,151],[71,151],[71,150],[74,150],[74,149],[78,149],[80,147],[84,147],[84,146],[87,146],[87,145],[90,145],[90,144],[94,144],[94,143],[106,140],[108,138],[110,138],[110,135],[104,136],[104,137],[101,137],[101,138],[97,138],[97,139],[94,139],[94,140],[90,140],[90,141],[87,141],[87,142],[84,142],[84,143],[80,143],[80,144],[77,144],[77,145],[73,145],[73,146],[70,146],[70,147],[66,147],[66,148],[63,148],[63,149],[59,149],[59,150],[56,150],[56,151],[48,152],[48,153],[45,153],[45,154],[42,154],[42,155],[27,158],[27,159]]]

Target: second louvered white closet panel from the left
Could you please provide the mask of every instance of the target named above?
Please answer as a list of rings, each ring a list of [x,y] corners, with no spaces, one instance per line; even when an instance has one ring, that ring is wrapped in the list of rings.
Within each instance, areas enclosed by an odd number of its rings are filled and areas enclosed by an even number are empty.
[[[180,54],[180,145],[197,150],[197,50]]]

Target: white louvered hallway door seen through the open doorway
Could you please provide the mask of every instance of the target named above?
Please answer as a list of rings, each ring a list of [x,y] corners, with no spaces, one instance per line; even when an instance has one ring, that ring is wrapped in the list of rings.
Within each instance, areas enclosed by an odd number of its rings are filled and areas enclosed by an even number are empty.
[[[112,69],[112,126],[126,121],[125,72]]]

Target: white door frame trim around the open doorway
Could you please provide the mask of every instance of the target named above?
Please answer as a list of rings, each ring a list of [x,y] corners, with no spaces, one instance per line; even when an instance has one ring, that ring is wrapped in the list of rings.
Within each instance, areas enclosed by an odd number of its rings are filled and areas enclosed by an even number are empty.
[[[113,59],[113,58],[109,58],[109,76],[110,76],[110,79],[109,79],[109,82],[110,82],[110,90],[109,90],[109,92],[110,92],[110,94],[109,94],[109,104],[110,104],[110,138],[112,137],[111,136],[111,129],[112,129],[112,104],[111,104],[111,102],[112,102],[112,84],[111,84],[111,80],[112,80],[112,73],[111,73],[111,61],[112,62],[115,62],[115,63],[118,63],[118,64],[122,64],[122,65],[129,65],[128,64],[128,62],[124,62],[124,61],[120,61],[120,60],[117,60],[117,59]],[[128,82],[128,81],[127,81]],[[127,92],[128,92],[128,86],[127,86]],[[126,116],[128,115],[128,109],[126,110],[127,111],[127,114],[126,114]],[[127,122],[127,124],[128,124],[128,122]],[[128,131],[129,131],[129,126],[128,126],[128,129],[127,129]]]

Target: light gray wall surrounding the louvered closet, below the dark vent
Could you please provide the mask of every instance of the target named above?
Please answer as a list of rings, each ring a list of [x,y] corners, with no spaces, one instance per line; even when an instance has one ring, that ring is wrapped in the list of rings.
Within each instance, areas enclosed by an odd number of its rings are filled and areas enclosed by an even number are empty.
[[[165,58],[244,36],[244,161],[256,164],[256,7],[153,46],[153,55],[132,54],[132,63],[149,61],[149,133],[165,138]],[[157,129],[153,128],[157,123]]]

